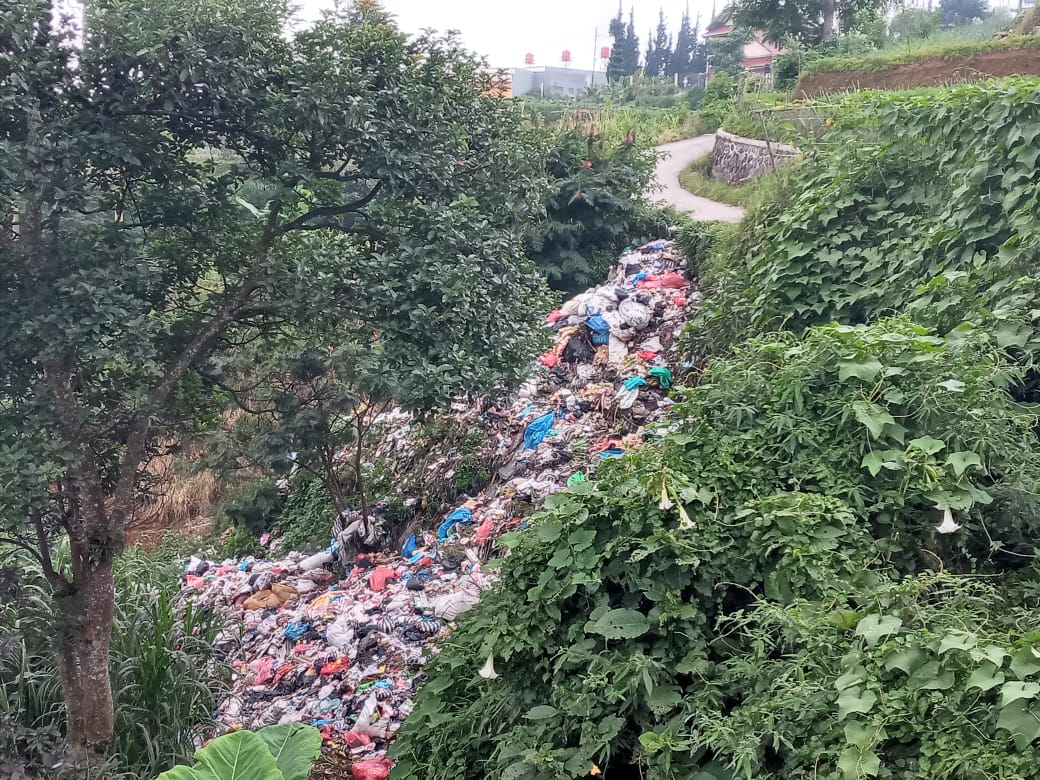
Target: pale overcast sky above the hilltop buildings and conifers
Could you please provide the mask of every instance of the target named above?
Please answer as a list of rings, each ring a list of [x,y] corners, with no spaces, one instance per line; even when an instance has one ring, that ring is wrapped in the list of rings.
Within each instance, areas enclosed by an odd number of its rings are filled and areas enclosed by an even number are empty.
[[[333,0],[296,2],[309,18],[333,4]],[[664,8],[674,34],[686,0],[624,0],[626,20],[630,5],[635,6],[635,33],[645,51],[648,30],[657,27],[658,9]],[[591,68],[599,47],[610,45],[607,25],[618,12],[618,0],[383,0],[383,6],[397,17],[406,32],[425,27],[459,30],[466,45],[487,56],[495,68],[523,66],[527,52],[535,55],[536,64],[560,64],[564,49],[571,51],[572,67]],[[690,16],[696,18],[700,11],[702,29],[711,8],[712,0],[690,0]]]

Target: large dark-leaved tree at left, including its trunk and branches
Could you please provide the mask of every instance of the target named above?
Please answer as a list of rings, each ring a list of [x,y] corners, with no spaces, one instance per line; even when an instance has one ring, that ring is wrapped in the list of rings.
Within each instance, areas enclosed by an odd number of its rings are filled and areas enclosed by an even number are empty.
[[[0,540],[52,589],[88,759],[112,735],[113,558],[200,369],[320,314],[401,392],[515,382],[544,172],[452,37],[374,14],[286,35],[280,0],[99,3],[79,35],[59,5],[0,17]]]

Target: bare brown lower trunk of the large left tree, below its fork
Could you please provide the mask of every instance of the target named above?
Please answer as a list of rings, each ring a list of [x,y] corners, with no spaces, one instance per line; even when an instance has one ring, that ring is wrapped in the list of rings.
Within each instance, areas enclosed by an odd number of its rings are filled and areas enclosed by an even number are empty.
[[[108,673],[115,586],[112,555],[74,545],[73,592],[56,598],[57,656],[64,693],[72,757],[89,761],[108,749],[114,728],[112,682]],[[86,554],[83,554],[86,553]]]

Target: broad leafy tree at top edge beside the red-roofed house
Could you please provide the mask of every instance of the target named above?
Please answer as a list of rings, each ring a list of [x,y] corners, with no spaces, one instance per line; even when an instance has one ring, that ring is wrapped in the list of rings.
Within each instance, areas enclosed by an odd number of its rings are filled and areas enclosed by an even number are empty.
[[[850,28],[860,11],[876,11],[882,0],[736,0],[732,6],[734,26],[764,30],[775,44],[791,37],[805,46],[830,41]]]

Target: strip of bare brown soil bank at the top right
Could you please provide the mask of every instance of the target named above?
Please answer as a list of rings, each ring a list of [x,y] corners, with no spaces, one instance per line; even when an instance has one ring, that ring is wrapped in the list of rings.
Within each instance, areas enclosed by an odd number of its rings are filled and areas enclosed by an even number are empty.
[[[967,54],[948,59],[922,59],[882,70],[821,71],[803,76],[798,99],[857,89],[913,89],[918,86],[982,81],[1002,76],[1040,76],[1040,49],[1015,49]]]

